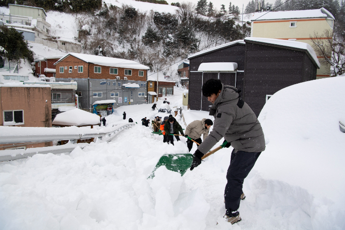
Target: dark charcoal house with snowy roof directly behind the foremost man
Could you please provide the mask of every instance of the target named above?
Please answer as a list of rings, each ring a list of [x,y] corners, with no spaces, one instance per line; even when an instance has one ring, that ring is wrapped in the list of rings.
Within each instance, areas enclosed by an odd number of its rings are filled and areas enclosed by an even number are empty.
[[[316,79],[320,63],[307,43],[246,37],[194,53],[190,60],[190,109],[208,111],[211,103],[202,96],[208,79],[242,89],[243,100],[258,116],[278,90]]]

